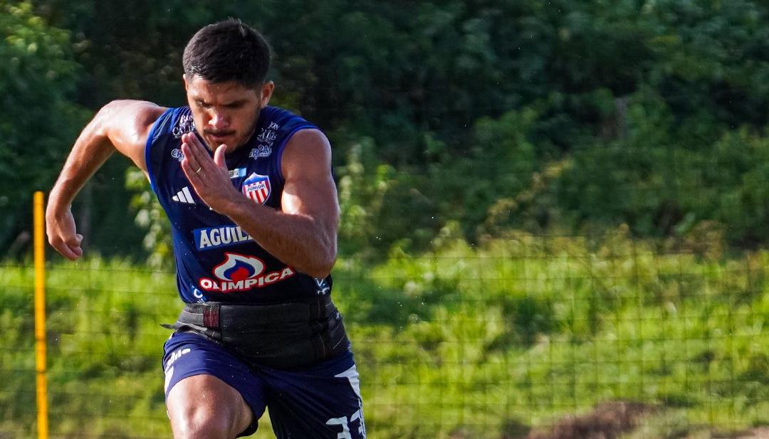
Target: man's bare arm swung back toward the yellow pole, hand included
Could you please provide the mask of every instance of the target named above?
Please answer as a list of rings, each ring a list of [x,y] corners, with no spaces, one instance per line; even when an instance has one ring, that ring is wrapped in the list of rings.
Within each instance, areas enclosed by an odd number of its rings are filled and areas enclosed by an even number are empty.
[[[112,101],[83,128],[45,210],[48,242],[65,258],[74,260],[83,253],[83,237],[75,232],[71,210],[75,195],[115,150],[147,174],[145,145],[152,125],[165,109],[146,101]]]

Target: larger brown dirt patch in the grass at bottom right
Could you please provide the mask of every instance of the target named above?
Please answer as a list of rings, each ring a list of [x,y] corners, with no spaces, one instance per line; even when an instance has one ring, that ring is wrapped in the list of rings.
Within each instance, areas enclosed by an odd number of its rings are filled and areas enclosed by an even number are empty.
[[[605,402],[590,413],[564,417],[549,430],[532,431],[526,439],[616,439],[633,430],[641,417],[655,410],[654,406],[638,402]]]

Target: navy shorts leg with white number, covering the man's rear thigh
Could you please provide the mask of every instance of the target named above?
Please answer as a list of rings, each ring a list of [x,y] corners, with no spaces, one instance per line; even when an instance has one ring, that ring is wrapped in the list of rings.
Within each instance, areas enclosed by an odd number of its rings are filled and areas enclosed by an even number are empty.
[[[260,369],[278,439],[365,438],[358,370],[351,352],[301,371]]]

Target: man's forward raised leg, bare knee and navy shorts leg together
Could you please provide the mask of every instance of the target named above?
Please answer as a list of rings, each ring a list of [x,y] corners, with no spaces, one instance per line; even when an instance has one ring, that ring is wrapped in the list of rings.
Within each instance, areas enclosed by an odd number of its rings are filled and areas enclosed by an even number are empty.
[[[248,436],[265,411],[261,378],[219,344],[192,332],[165,342],[163,370],[174,431],[207,426]]]

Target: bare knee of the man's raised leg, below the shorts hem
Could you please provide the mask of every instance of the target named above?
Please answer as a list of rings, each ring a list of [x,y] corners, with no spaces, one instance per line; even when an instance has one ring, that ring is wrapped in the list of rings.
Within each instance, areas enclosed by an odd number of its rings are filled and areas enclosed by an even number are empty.
[[[251,424],[241,395],[211,375],[179,381],[166,404],[175,439],[231,439]]]

